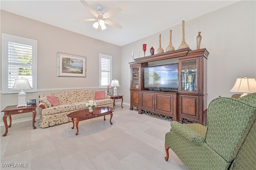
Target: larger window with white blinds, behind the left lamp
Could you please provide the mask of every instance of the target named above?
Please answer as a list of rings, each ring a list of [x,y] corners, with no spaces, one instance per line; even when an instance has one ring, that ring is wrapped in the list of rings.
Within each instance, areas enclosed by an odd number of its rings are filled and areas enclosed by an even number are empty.
[[[37,40],[2,33],[2,93],[11,91],[15,79],[26,78],[37,91]]]

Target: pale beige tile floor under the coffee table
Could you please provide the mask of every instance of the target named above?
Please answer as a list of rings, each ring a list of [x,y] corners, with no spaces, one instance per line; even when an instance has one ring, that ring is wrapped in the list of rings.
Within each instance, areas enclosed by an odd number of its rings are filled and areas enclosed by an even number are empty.
[[[164,160],[164,137],[170,121],[139,115],[127,105],[116,105],[112,123],[110,116],[36,129],[30,121],[13,124],[3,137],[1,126],[0,169],[33,170],[187,170],[169,150]],[[12,167],[6,167],[6,166]],[[18,168],[17,166],[23,166]]]

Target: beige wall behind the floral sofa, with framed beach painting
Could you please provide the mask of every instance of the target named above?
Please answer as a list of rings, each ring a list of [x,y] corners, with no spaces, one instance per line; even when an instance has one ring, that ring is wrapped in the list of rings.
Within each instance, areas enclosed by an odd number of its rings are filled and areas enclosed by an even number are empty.
[[[113,79],[120,81],[121,47],[76,34],[36,20],[1,10],[1,33],[38,40],[38,92],[27,93],[26,99],[38,99],[43,93],[66,89],[98,89],[98,55],[112,55]],[[57,77],[57,52],[87,57],[86,77]],[[0,94],[0,109],[18,103],[17,94]],[[38,110],[38,109],[37,109]],[[1,122],[4,113],[1,112]],[[39,113],[37,114],[39,115]],[[12,119],[31,117],[31,113]]]

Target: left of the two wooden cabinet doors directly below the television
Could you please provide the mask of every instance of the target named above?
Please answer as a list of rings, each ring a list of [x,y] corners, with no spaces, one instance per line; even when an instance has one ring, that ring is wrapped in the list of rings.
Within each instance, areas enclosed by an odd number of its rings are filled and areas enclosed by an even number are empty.
[[[141,92],[141,109],[147,109],[150,111],[154,111],[154,95],[155,93],[145,93]]]

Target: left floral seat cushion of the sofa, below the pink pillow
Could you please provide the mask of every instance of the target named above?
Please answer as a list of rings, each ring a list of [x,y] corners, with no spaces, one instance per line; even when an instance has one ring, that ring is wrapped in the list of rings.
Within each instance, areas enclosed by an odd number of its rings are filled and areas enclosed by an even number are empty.
[[[72,104],[58,105],[58,106],[52,106],[52,107],[43,109],[42,115],[50,115],[50,114],[62,113],[62,112],[74,111],[74,110],[76,110],[76,106]]]

